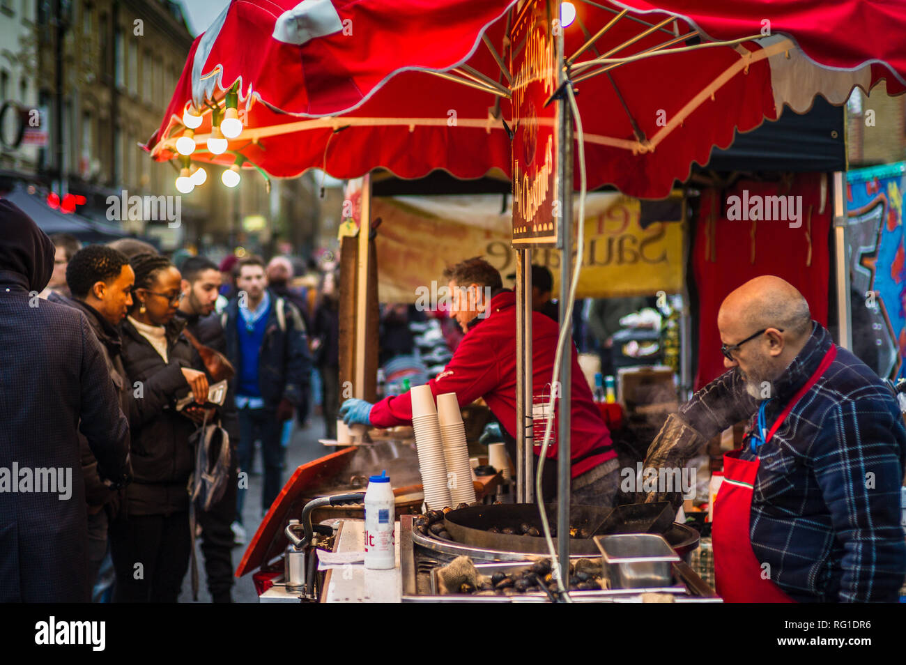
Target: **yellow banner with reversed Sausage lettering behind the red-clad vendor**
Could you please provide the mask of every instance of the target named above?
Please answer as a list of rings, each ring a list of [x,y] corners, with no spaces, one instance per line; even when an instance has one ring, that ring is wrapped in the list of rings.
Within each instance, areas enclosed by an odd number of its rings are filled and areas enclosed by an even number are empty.
[[[383,220],[376,240],[381,303],[415,303],[432,282],[446,285],[442,274],[448,265],[472,256],[484,256],[500,271],[504,285],[512,287],[506,275],[516,272],[516,249],[509,236],[511,198],[506,201],[484,194],[373,198],[372,216]],[[588,196],[576,297],[682,291],[685,226],[671,219],[642,228],[640,209],[638,199],[622,194]],[[536,249],[532,262],[550,268],[557,294],[560,251]]]

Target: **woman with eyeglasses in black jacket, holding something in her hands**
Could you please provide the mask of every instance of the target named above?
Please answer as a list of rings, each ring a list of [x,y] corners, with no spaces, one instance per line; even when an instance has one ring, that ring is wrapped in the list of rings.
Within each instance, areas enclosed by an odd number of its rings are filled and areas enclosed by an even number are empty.
[[[204,372],[191,369],[192,346],[174,318],[179,271],[165,256],[130,258],[132,308],[122,323],[122,360],[129,377],[134,481],[111,525],[117,573],[115,602],[176,602],[188,569],[191,539],[188,477],[195,458],[192,420],[175,402],[192,390],[207,398]]]

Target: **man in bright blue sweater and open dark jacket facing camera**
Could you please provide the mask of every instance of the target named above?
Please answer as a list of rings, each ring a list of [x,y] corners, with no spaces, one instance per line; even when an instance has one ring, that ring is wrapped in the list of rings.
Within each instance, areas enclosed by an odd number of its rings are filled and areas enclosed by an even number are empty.
[[[303,401],[312,373],[302,314],[292,303],[270,293],[265,265],[255,256],[237,265],[236,298],[221,314],[226,357],[236,368],[230,389],[239,410],[239,470],[252,467],[255,439],[261,439],[265,458],[262,511],[280,493],[283,451],[280,423],[293,417]],[[240,487],[236,520],[242,522],[246,490]]]

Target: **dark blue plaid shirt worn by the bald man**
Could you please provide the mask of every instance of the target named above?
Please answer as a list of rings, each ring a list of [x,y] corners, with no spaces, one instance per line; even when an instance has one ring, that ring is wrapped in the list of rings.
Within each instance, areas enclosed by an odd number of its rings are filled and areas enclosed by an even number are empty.
[[[774,381],[768,429],[833,343],[814,323],[803,350]],[[757,406],[733,369],[699,390],[679,416],[710,438],[741,419],[754,428]],[[838,348],[758,457],[749,535],[771,579],[798,602],[896,602],[906,576],[906,430],[878,376]],[[748,438],[740,458],[756,458]]]

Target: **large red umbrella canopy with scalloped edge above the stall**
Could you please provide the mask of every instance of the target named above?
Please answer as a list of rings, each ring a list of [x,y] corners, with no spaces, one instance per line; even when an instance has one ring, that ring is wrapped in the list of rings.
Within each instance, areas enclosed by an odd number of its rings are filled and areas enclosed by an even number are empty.
[[[211,127],[206,112],[191,159],[238,160],[282,177],[314,167],[338,178],[379,167],[404,178],[438,168],[458,178],[495,168],[510,175],[508,130],[525,120],[512,117],[511,74],[502,71],[512,47],[511,3],[303,3],[320,14],[306,10],[311,15],[296,27],[307,25],[309,38],[287,45],[280,41],[288,39],[286,14],[278,10],[291,5],[234,2],[212,26],[216,32],[198,38],[149,141],[154,159],[177,156],[188,106],[222,102],[232,88],[236,97],[227,106],[247,108],[246,129],[229,141],[230,152],[212,155],[203,149]],[[632,196],[663,197],[693,161],[706,163],[735,130],[775,119],[785,103],[806,111],[819,92],[843,103],[853,85],[868,90],[883,76],[893,82],[889,88],[901,89],[906,64],[889,44],[906,34],[906,12],[884,13],[890,4],[748,0],[732,11],[716,0],[660,5],[580,4],[564,29],[565,53],[575,53],[570,76],[581,93],[590,188],[612,184]],[[626,11],[630,6],[639,11]],[[689,7],[696,11],[680,15]],[[845,31],[827,27],[841,16]],[[338,28],[346,21],[352,34]],[[335,32],[326,32],[330,25]],[[781,28],[785,34],[776,34]],[[804,44],[807,57],[786,34]],[[407,66],[417,71],[400,72]],[[311,118],[324,114],[331,115]]]

